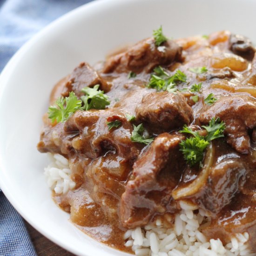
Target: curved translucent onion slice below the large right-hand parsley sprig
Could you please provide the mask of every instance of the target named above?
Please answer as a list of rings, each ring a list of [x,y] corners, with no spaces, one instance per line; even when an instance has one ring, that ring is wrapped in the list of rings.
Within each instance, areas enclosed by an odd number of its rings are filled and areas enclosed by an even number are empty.
[[[210,174],[210,168],[212,166],[213,160],[215,156],[215,148],[212,146],[212,144],[209,145],[207,148],[207,153],[205,156],[204,165],[202,167],[202,170],[200,174],[197,176],[197,178],[189,183],[186,187],[177,187],[172,191],[172,197],[177,200],[181,199],[190,195],[194,195],[197,193],[206,183],[207,178]]]

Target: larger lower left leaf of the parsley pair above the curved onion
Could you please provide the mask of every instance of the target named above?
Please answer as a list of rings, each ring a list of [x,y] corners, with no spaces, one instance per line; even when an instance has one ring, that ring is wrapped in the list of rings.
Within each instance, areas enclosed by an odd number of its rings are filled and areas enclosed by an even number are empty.
[[[203,136],[196,135],[182,141],[180,151],[182,151],[186,162],[190,166],[194,166],[196,163],[202,162],[204,150],[208,145],[209,141],[206,141]]]

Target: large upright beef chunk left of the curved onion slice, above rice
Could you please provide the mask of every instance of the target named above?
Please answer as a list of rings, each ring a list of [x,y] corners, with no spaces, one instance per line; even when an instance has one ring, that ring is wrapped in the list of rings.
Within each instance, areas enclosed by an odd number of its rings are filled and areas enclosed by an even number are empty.
[[[172,189],[181,177],[184,161],[179,143],[184,138],[163,133],[135,162],[134,179],[127,183],[121,196],[120,218],[124,227],[145,225],[153,214],[166,211]]]

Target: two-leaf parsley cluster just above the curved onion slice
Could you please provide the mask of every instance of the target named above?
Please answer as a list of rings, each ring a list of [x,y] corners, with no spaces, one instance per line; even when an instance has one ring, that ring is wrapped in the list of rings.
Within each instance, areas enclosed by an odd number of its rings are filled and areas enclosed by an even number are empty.
[[[202,126],[208,132],[206,136],[199,135],[198,131],[192,131],[187,125],[183,127],[181,133],[193,135],[180,143],[180,150],[183,153],[184,159],[190,166],[201,163],[203,160],[203,153],[209,142],[217,138],[223,137],[225,123],[220,119],[212,118],[208,126]]]

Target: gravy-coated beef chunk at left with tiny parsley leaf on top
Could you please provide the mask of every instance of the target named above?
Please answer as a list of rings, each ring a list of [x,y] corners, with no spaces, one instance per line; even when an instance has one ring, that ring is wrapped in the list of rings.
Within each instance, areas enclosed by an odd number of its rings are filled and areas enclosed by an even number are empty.
[[[109,130],[107,121],[113,116],[121,121],[121,126]],[[112,151],[129,161],[139,155],[142,147],[131,141],[133,126],[118,109],[77,111],[66,121],[64,129],[67,134],[79,133],[72,146],[92,159]]]

